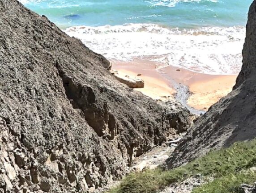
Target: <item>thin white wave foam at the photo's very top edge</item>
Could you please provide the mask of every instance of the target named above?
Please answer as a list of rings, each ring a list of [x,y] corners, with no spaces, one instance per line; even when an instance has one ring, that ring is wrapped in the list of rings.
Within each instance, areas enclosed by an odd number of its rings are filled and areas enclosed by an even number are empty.
[[[177,3],[199,3],[202,0],[146,0],[146,2],[154,5],[154,6],[167,6],[167,7],[175,7]],[[204,0],[210,1],[213,3],[218,2],[218,0]]]

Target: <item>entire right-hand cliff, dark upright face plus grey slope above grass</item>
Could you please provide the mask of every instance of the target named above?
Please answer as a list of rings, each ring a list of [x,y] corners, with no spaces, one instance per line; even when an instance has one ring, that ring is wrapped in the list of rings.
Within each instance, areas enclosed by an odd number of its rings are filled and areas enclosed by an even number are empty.
[[[256,0],[253,1],[247,22],[243,47],[243,67],[234,90],[196,122],[183,138],[168,166],[180,164],[204,155],[213,148],[256,137]]]

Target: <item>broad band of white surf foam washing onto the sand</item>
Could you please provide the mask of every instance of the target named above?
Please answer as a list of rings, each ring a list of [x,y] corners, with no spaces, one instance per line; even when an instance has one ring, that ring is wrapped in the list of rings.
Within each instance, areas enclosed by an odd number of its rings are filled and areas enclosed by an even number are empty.
[[[77,26],[65,30],[108,59],[150,58],[207,74],[236,74],[245,28],[167,29],[155,24]]]

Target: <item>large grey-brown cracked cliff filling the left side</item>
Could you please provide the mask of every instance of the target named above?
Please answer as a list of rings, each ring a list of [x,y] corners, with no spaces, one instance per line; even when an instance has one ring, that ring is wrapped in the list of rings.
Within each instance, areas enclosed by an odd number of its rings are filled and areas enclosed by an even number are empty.
[[[190,125],[46,17],[0,0],[0,192],[93,192]]]

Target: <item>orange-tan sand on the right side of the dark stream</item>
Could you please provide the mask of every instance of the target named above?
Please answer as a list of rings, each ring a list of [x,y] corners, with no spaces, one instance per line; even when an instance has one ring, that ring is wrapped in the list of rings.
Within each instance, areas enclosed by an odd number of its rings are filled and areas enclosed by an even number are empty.
[[[172,66],[163,68],[162,73],[171,77],[177,83],[187,85],[192,95],[188,105],[207,110],[222,97],[232,91],[237,75],[208,75],[184,70]]]

